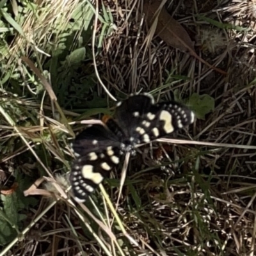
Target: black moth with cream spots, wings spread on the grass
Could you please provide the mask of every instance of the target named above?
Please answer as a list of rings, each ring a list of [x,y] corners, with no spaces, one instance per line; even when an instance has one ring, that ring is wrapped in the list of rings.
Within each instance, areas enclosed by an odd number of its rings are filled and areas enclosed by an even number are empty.
[[[155,103],[148,93],[118,102],[114,118],[86,128],[72,143],[77,158],[72,163],[70,184],[77,202],[86,200],[126,152],[134,154],[136,145],[183,129],[194,120],[193,111],[183,104]]]

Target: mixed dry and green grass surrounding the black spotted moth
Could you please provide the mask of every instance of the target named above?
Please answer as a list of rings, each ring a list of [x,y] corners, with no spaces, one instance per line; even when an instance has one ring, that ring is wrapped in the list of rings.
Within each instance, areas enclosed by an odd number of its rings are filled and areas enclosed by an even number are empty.
[[[255,255],[255,4],[166,4],[227,76],[154,36],[141,6],[0,2],[0,255]],[[195,124],[74,204],[70,140],[139,91]]]

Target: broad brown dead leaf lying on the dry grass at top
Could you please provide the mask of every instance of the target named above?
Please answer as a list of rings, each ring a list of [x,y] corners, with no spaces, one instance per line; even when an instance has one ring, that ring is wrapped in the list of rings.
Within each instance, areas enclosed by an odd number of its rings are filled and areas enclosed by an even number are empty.
[[[163,5],[163,4],[162,4]],[[182,52],[195,51],[193,42],[191,41],[187,31],[166,11],[161,9],[161,1],[154,0],[153,3],[145,1],[143,11],[145,12],[148,24],[154,26],[157,22],[155,35],[159,36],[166,44],[179,49]],[[153,19],[154,18],[154,19]],[[190,49],[189,49],[190,48]]]

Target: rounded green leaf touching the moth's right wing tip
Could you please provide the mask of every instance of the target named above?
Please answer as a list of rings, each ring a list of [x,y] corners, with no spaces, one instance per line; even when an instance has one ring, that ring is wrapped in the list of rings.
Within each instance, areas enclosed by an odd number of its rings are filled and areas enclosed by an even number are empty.
[[[214,99],[207,94],[198,95],[197,93],[193,93],[186,102],[198,119],[204,120],[205,115],[214,110]]]

